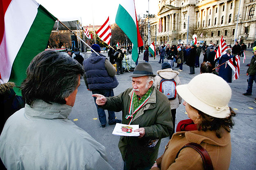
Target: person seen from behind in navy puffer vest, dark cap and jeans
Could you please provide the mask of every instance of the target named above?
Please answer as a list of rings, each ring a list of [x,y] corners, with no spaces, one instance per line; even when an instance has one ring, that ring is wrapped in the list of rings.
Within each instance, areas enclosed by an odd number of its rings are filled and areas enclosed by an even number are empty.
[[[118,80],[116,79],[116,69],[112,66],[109,60],[100,53],[100,46],[98,44],[93,44],[92,49],[97,53],[91,53],[90,57],[84,60],[84,82],[86,84],[87,90],[91,91],[93,94],[101,94],[106,97],[114,96],[113,88],[118,86]],[[99,54],[99,55],[97,55]],[[96,101],[96,97],[94,102]],[[106,126],[106,113],[105,110],[97,107],[97,113],[99,116],[101,127]],[[109,125],[116,123],[121,123],[122,121],[116,119],[115,112],[109,111]]]

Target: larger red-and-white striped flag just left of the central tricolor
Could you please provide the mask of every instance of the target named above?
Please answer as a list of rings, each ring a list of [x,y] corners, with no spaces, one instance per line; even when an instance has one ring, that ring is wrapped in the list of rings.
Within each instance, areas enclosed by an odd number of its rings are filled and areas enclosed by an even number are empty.
[[[102,41],[110,45],[111,29],[110,29],[109,17],[106,19],[104,24],[100,27],[100,29],[96,32],[96,34],[100,37]]]

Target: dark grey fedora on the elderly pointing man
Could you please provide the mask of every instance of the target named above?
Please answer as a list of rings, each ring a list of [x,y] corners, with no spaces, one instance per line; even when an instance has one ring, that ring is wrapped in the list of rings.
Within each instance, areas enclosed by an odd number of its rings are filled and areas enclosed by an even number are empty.
[[[145,76],[145,75],[156,77],[156,75],[154,75],[154,73],[153,73],[152,66],[147,62],[141,62],[135,67],[134,73],[129,76],[130,77],[141,77],[141,76]]]

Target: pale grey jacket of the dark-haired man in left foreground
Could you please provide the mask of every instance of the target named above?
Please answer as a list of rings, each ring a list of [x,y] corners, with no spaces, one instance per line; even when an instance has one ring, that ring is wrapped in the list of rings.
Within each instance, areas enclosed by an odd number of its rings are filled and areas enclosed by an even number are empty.
[[[68,119],[71,110],[38,99],[9,117],[0,136],[7,169],[113,170],[105,147]]]

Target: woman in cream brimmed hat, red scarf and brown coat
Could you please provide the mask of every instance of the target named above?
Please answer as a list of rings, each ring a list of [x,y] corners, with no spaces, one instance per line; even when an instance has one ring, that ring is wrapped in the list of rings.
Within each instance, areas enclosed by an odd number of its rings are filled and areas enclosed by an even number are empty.
[[[222,91],[219,90],[222,88]],[[188,143],[202,146],[209,154],[214,170],[228,170],[231,159],[230,128],[236,115],[228,106],[231,88],[221,77],[203,73],[195,76],[188,84],[176,87],[184,99],[190,119],[177,125],[177,132],[166,146],[164,154],[156,159],[152,170],[204,170],[199,153],[186,147]]]

